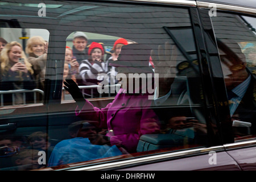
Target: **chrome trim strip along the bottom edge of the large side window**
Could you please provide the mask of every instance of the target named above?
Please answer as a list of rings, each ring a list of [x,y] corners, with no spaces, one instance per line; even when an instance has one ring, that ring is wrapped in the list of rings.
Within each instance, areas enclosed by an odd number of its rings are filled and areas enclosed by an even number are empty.
[[[152,156],[142,156],[135,159],[126,159],[121,160],[118,162],[110,162],[110,163],[104,163],[104,164],[94,164],[94,166],[86,166],[86,167],[79,167],[77,164],[69,164],[69,168],[65,169],[59,169],[59,170],[67,170],[67,171],[97,171],[97,170],[106,170],[106,169],[113,169],[113,168],[119,168],[119,167],[125,167],[129,165],[134,164],[142,164],[145,162],[154,162],[155,160],[164,160],[164,159],[170,159],[174,157],[179,156],[185,156],[185,155],[197,155],[201,153],[206,153],[209,151],[224,151],[224,146],[214,146],[214,147],[201,147],[201,148],[194,148],[189,150],[183,150],[183,151],[176,151],[176,152],[169,152],[166,154],[157,154]]]

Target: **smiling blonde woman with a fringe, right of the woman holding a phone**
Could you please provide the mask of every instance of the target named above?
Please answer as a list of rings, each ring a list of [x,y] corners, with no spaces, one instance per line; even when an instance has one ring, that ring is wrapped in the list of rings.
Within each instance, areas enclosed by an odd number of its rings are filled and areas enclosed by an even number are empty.
[[[41,36],[33,36],[27,41],[26,53],[28,61],[32,64],[37,80],[37,87],[44,89],[46,75],[47,42]]]

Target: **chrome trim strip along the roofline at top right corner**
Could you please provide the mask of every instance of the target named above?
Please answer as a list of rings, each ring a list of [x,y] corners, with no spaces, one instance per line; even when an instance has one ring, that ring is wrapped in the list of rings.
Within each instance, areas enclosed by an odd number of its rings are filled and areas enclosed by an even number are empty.
[[[250,14],[256,14],[256,9],[250,8],[250,7],[241,7],[236,5],[224,5],[220,3],[212,3],[212,2],[200,2],[197,1],[197,7],[204,7],[204,8],[212,8],[212,6],[217,8],[217,10],[232,10],[240,13],[250,13]],[[210,6],[210,7],[209,7]]]

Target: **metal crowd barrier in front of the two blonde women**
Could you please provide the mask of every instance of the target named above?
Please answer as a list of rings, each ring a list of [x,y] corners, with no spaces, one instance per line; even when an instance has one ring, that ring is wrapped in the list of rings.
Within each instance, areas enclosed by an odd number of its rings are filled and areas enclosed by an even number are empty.
[[[3,95],[4,94],[12,94],[13,99],[13,105],[15,105],[15,93],[23,93],[23,104],[26,104],[26,93],[28,92],[34,92],[34,103],[36,103],[36,93],[44,94],[43,90],[40,89],[33,89],[33,90],[26,90],[26,89],[19,89],[19,90],[1,90],[0,91],[0,98],[1,98],[1,106],[4,106],[3,104]]]

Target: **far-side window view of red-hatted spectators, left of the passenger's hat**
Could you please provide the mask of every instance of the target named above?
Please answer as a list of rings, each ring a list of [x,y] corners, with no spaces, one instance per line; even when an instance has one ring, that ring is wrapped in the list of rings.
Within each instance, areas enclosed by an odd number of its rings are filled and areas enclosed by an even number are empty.
[[[88,39],[90,42],[88,42]],[[100,40],[100,42],[96,42]],[[65,64],[68,64],[68,74],[64,80],[72,78],[82,90],[85,98],[115,96],[115,75],[117,69],[110,63],[117,60],[123,45],[128,41],[115,36],[93,34],[91,32],[73,32],[67,38],[65,51]],[[94,50],[98,48],[98,50]],[[100,51],[100,54],[97,53]],[[94,64],[96,63],[96,64]],[[65,70],[65,67],[64,67]],[[104,75],[109,78],[108,92],[99,93],[98,86],[104,80]],[[69,93],[63,89],[62,100],[72,100]]]

